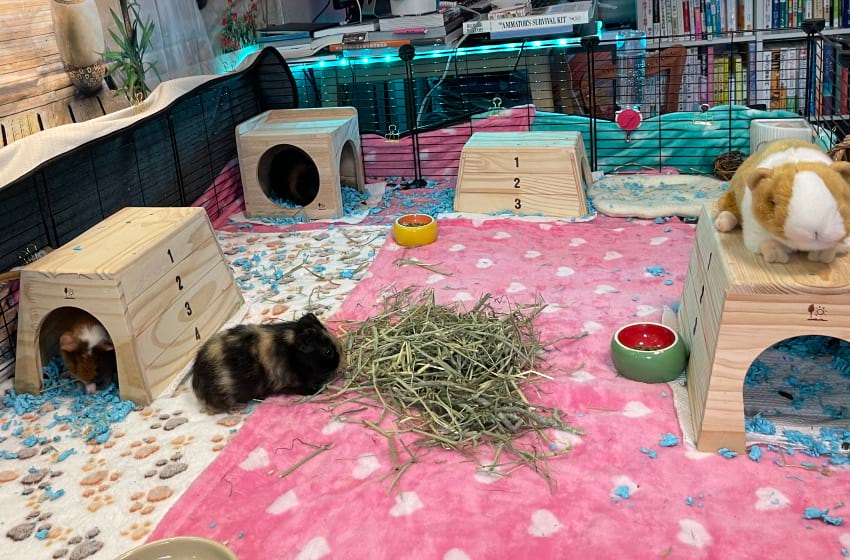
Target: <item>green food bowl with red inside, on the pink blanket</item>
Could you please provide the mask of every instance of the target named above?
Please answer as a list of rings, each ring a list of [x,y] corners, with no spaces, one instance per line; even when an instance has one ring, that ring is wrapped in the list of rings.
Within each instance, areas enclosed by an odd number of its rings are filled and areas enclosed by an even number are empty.
[[[687,354],[676,331],[661,323],[630,323],[611,337],[614,367],[635,381],[673,381],[684,371]]]

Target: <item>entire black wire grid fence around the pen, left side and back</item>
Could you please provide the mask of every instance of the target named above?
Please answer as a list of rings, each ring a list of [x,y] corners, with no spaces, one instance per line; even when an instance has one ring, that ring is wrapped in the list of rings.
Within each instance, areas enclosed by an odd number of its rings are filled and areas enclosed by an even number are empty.
[[[353,106],[367,174],[409,179],[453,179],[478,130],[578,130],[591,166],[607,173],[710,174],[718,154],[749,153],[752,118],[805,118],[832,147],[850,133],[850,33],[821,29],[652,37],[637,49],[597,36],[468,53],[386,49],[325,63],[287,64],[264,49],[246,68],[0,189],[0,271],[124,206],[187,205],[206,193],[211,215],[224,212],[234,195],[219,182],[232,181],[221,171],[236,156],[235,127],[268,109]],[[15,290],[0,283],[0,379],[14,372]]]

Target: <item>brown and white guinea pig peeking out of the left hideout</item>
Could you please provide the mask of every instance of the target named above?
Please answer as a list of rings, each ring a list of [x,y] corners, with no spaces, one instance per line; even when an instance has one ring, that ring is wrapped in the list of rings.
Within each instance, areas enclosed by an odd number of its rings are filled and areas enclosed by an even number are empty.
[[[115,373],[115,347],[103,325],[85,311],[77,310],[66,320],[68,328],[59,336],[62,362],[85,384],[86,393],[94,393],[96,380]]]

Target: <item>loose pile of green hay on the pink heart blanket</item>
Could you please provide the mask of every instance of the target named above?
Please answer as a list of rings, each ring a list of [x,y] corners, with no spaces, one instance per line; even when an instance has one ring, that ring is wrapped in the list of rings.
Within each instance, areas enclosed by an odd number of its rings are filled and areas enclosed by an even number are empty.
[[[547,430],[577,430],[561,410],[532,404],[525,394],[547,377],[536,368],[554,341],[541,342],[534,327],[545,304],[498,311],[494,303],[485,295],[468,310],[438,305],[433,290],[389,296],[379,314],[347,333],[348,375],[326,391],[326,402],[394,415],[392,430],[361,421],[390,440],[394,459],[395,436],[414,434],[414,448],[440,446],[477,460],[485,445],[496,453],[487,467],[499,466],[505,451],[514,459],[501,466],[530,466],[548,478],[541,462],[568,450],[550,449]],[[520,443],[524,435],[536,438]],[[405,449],[416,462],[417,453]]]

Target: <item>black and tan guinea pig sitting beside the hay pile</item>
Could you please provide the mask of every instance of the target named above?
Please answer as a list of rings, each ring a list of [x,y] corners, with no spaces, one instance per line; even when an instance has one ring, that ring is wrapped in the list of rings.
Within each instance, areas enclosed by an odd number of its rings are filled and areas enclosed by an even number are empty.
[[[211,411],[271,395],[312,395],[345,367],[339,340],[312,313],[297,321],[238,325],[198,350],[192,389]]]

